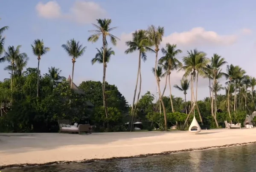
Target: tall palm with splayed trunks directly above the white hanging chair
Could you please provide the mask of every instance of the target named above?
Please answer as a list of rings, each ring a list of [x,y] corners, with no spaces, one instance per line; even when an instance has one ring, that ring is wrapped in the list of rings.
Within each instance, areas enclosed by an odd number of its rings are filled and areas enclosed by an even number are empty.
[[[194,102],[197,107],[200,121],[203,124],[201,113],[199,111],[198,104],[196,101],[197,94],[195,97],[195,93],[194,93],[193,81],[196,79],[196,85],[198,85],[199,74],[204,75],[203,71],[206,68],[208,61],[206,58],[206,54],[204,52],[198,51],[197,49],[194,49],[193,51],[191,50],[190,52],[187,51],[187,53],[188,53],[187,57],[183,57],[183,62],[184,62],[185,66],[183,66],[180,70],[185,70],[185,74],[183,75],[183,77],[188,77],[189,75],[191,76],[190,77],[191,93],[192,93],[191,99],[192,99],[192,102]],[[198,88],[198,86],[196,86],[196,93],[197,93],[197,88]],[[192,108],[190,109],[189,115],[193,109],[194,109],[194,106],[192,106]]]

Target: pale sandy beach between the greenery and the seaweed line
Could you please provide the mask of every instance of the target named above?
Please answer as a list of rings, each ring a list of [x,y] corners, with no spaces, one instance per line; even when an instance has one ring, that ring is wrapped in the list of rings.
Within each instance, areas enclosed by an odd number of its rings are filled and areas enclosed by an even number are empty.
[[[119,132],[91,135],[0,134],[0,166],[134,156],[256,141],[256,129],[189,132]]]

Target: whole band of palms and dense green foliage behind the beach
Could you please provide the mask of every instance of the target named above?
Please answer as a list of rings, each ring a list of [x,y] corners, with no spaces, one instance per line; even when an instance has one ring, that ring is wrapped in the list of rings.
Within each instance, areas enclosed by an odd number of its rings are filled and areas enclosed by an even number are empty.
[[[105,80],[107,63],[115,55],[113,49],[108,47],[108,39],[113,46],[116,45],[118,38],[111,34],[116,27],[110,27],[110,19],[99,19],[97,22],[98,25],[93,24],[97,30],[91,31],[94,34],[88,41],[94,43],[102,36],[102,47],[97,49],[92,64],[102,63],[103,80],[83,81],[79,85],[80,91],[76,90],[78,88],[72,81],[69,83],[60,76],[60,69],[51,67],[47,74],[41,75],[40,60],[44,60],[42,56],[50,51],[43,40],[36,39],[31,45],[38,59],[37,68],[26,69],[27,54],[20,52],[21,46],[9,46],[4,50],[5,37],[1,34],[8,26],[0,28],[0,63],[9,63],[5,70],[11,75],[10,79],[0,82],[0,103],[12,103],[10,109],[1,109],[0,132],[57,132],[58,119],[90,123],[101,132],[132,131],[136,121],[141,121],[142,127],[148,130],[167,130],[170,126],[186,129],[194,114],[202,128],[209,129],[223,127],[224,120],[243,123],[246,114],[256,110],[254,77],[246,75],[239,66],[227,65],[218,54],[208,58],[205,52],[197,49],[187,51],[183,63],[180,62],[176,56],[182,51],[177,49],[176,44],[166,43],[165,48],[160,49],[164,36],[164,28],[160,26],[135,31],[132,40],[126,42],[128,49],[125,54],[138,52],[139,57],[134,97],[131,106],[128,106],[118,88]],[[71,57],[74,71],[75,62],[83,56],[86,47],[74,39],[62,47]],[[163,57],[158,58],[159,52]],[[146,61],[146,53],[155,54],[152,72],[159,94],[156,101],[155,95],[150,92],[140,95],[141,60]],[[226,72],[222,71],[223,67],[227,68]],[[170,75],[175,70],[184,71],[184,76],[180,78],[180,85],[173,86]],[[74,73],[72,80],[73,77]],[[209,80],[209,97],[204,100],[197,100],[200,77]],[[227,79],[226,87],[218,82],[222,77]],[[160,82],[165,83],[163,90],[160,89]],[[170,97],[165,96],[166,89],[169,89]],[[183,92],[184,99],[173,96],[172,89]],[[218,94],[221,90],[226,93]],[[187,94],[192,95],[191,100],[186,99]],[[130,125],[126,125],[127,122]]]

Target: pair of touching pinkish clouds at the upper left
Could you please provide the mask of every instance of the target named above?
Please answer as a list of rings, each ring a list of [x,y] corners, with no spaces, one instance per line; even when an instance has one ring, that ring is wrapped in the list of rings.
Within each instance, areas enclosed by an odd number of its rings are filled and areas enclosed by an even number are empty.
[[[99,4],[81,0],[76,0],[68,13],[62,13],[61,7],[56,1],[49,1],[46,4],[39,2],[36,11],[43,18],[62,18],[82,24],[92,23],[106,14],[106,11]]]

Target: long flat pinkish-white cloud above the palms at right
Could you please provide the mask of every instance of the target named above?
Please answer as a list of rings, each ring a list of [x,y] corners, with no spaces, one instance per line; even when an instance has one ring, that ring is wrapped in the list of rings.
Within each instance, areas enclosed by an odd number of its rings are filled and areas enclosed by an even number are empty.
[[[181,46],[229,46],[236,40],[236,35],[219,35],[216,32],[197,27],[186,32],[172,33],[163,38],[163,43],[175,43]]]

